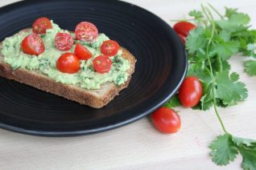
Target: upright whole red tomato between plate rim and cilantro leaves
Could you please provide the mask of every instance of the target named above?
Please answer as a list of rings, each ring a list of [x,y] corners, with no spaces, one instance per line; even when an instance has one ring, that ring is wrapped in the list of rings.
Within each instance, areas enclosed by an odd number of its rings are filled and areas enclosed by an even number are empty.
[[[180,103],[184,107],[194,107],[200,102],[203,87],[197,77],[187,77],[179,90]]]

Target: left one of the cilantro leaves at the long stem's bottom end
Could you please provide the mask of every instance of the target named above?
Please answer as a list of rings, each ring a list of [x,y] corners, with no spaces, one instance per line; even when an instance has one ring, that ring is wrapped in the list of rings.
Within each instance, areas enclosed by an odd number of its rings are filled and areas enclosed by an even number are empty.
[[[217,136],[217,140],[213,140],[209,148],[212,149],[210,156],[217,165],[229,164],[238,154],[237,148],[233,146],[232,136],[229,134]]]

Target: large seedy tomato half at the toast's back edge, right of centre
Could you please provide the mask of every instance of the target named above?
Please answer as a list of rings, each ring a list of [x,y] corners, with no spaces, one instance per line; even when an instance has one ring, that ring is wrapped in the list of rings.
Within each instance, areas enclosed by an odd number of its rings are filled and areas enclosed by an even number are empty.
[[[80,22],[75,30],[76,39],[91,42],[97,38],[97,27],[91,22]]]

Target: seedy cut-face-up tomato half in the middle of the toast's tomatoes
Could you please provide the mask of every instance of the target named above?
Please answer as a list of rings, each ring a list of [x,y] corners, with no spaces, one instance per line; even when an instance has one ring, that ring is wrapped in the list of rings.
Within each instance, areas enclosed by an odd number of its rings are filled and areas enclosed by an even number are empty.
[[[72,36],[68,33],[57,33],[55,36],[55,46],[60,51],[69,51],[74,44]]]

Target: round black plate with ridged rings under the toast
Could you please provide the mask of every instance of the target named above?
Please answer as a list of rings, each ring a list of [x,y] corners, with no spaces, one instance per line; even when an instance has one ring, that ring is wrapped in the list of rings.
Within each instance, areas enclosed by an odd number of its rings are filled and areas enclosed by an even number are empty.
[[[129,87],[101,109],[0,78],[0,127],[37,136],[79,136],[120,127],[155,111],[175,94],[187,58],[174,30],[155,14],[113,0],[17,2],[0,9],[0,40],[52,18],[66,30],[89,21],[136,58]]]

